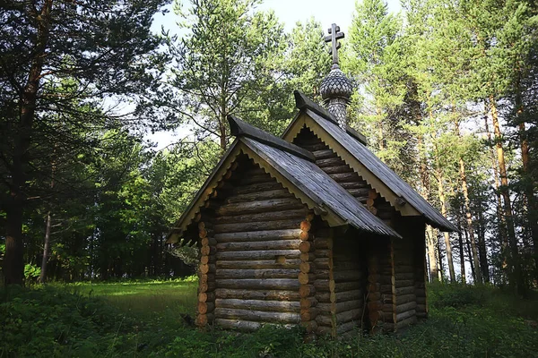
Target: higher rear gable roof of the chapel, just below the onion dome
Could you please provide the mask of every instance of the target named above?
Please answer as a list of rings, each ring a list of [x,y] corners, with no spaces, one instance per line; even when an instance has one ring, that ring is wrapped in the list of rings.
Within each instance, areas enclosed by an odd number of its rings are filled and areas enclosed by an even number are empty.
[[[332,149],[334,149],[334,151],[336,151],[348,165],[357,170],[359,175],[365,178],[377,192],[380,192],[380,194],[384,196],[395,209],[402,212],[403,215],[413,215],[413,211],[416,210],[416,212],[426,218],[431,226],[438,227],[445,231],[457,231],[456,226],[448,221],[446,217],[443,217],[441,213],[433,208],[428,201],[424,200],[418,192],[415,192],[411,185],[406,183],[404,179],[396,175],[392,169],[377,158],[376,155],[364,145],[364,141],[360,141],[348,131],[343,132],[343,130],[334,123],[334,118],[326,115],[323,111],[318,110],[316,104],[312,106],[313,102],[312,104],[305,106],[305,96],[296,91],[296,99],[298,98],[298,107],[300,109],[299,115],[295,117],[286,131],[282,134],[282,137],[285,140],[292,141],[293,137],[297,134],[297,131],[302,128],[302,125],[300,124],[303,122],[308,127],[316,127],[315,129],[317,129],[317,131],[315,131],[315,133],[317,135],[319,135],[320,132],[324,132],[325,136],[322,135],[322,137],[325,137],[325,140],[327,137],[330,137],[332,140],[332,143],[325,144],[332,144],[329,145],[329,147],[333,147]],[[343,155],[344,152],[347,156]],[[412,208],[405,208],[407,203],[411,205]]]

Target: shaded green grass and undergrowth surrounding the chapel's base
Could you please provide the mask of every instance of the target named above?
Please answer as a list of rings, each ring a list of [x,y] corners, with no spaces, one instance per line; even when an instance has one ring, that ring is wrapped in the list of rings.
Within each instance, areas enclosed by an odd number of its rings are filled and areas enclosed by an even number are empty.
[[[538,300],[430,286],[430,320],[399,335],[305,344],[300,328],[246,335],[189,327],[195,282],[84,283],[0,291],[3,357],[538,357]]]

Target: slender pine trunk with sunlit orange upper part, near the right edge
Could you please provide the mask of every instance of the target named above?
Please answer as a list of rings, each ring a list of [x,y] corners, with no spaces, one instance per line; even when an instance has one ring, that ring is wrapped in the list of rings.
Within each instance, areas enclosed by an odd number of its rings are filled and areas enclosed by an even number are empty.
[[[504,149],[502,146],[502,135],[499,125],[499,114],[495,99],[490,97],[490,113],[493,121],[493,130],[495,131],[495,145],[497,147],[497,160],[499,161],[500,175],[500,192],[504,201],[504,217],[507,223],[508,243],[510,246],[510,254],[508,255],[508,264],[511,271],[510,286],[513,286],[518,294],[525,293],[523,275],[519,262],[519,251],[517,250],[516,230],[514,228],[514,218],[512,217],[512,204],[510,201],[510,193],[508,191],[508,175],[507,166],[505,163]]]

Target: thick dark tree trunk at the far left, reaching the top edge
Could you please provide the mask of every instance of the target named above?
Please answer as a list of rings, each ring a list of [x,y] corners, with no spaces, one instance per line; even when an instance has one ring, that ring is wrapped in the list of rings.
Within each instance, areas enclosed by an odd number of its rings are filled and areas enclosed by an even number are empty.
[[[52,0],[45,1],[35,21],[37,36],[33,44],[33,59],[30,64],[28,81],[24,86],[19,113],[19,130],[13,145],[12,183],[10,185],[10,200],[6,209],[6,235],[4,255],[4,281],[6,285],[22,285],[24,277],[22,215],[25,200],[27,166],[29,163],[28,149],[33,118],[36,109],[39,80],[43,70],[43,61],[48,44],[50,11]]]

